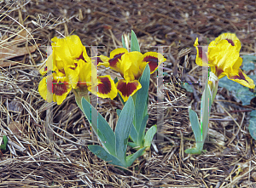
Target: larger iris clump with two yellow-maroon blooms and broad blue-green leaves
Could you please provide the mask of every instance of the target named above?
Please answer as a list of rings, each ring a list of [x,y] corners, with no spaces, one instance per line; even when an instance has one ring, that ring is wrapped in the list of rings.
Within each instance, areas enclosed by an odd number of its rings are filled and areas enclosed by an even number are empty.
[[[145,134],[149,78],[166,59],[156,52],[142,54],[133,31],[131,52],[125,48],[128,43],[123,43],[124,48],[114,49],[109,57],[100,55],[90,58],[78,36],[54,37],[52,42],[53,53],[40,71],[44,77],[38,86],[39,94],[44,100],[61,105],[67,94],[73,91],[79,108],[102,144],[88,145],[90,151],[108,163],[130,167],[150,147],[156,133],[154,125]],[[97,76],[97,66],[110,67],[118,71],[123,79],[116,78],[114,82],[109,75]],[[90,105],[89,92],[111,100],[119,94],[124,107],[117,110],[119,119],[114,131]],[[126,156],[127,145],[136,148],[137,152]]]

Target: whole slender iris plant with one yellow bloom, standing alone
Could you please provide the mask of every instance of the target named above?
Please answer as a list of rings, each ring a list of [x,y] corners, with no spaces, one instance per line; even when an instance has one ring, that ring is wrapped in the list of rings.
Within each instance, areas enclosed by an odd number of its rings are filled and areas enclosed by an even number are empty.
[[[201,118],[199,119],[195,111],[189,109],[189,119],[195,134],[196,145],[195,148],[187,149],[185,152],[201,154],[207,138],[209,115],[212,102],[217,94],[219,79],[227,76],[230,80],[247,88],[254,88],[255,84],[240,69],[241,43],[235,34],[221,34],[209,44],[207,52],[199,46],[198,38],[196,38],[195,48],[197,50],[195,63],[199,66],[208,66],[211,71],[201,98]]]

